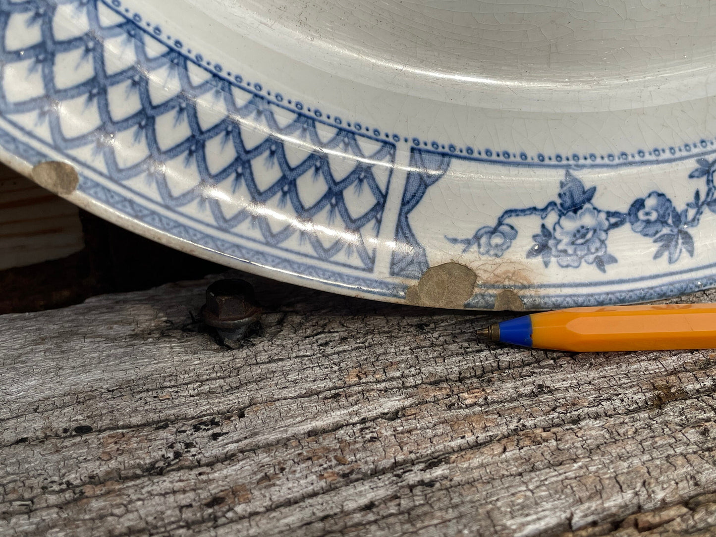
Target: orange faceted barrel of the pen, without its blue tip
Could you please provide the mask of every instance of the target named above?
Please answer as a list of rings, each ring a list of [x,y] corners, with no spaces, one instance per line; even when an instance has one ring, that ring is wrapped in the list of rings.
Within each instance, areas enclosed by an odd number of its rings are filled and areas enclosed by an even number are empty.
[[[532,346],[541,349],[716,349],[716,304],[571,308],[530,318]]]

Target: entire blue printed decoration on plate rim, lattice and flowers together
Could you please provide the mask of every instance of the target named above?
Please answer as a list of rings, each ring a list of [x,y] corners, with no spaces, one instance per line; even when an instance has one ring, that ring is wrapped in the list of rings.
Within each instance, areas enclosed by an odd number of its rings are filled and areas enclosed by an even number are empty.
[[[120,6],[0,0],[0,145],[29,165],[73,163],[87,200],[125,223],[197,246],[190,251],[198,255],[405,299],[407,286],[435,264],[435,245],[421,243],[411,214],[426,193],[451,184],[458,163],[549,169],[559,185],[546,205],[509,208],[472,236],[440,229],[444,250],[454,247],[466,263],[514,258],[515,245],[531,236],[520,254],[526,263],[610,274],[617,263],[642,262],[614,253],[613,232],[621,228],[653,242],[650,258],[677,266],[698,257],[693,230],[706,209],[716,212],[715,163],[704,158],[713,140],[634,154],[530,156],[397,135],[249,84]],[[659,190],[607,206],[616,203],[596,201],[597,187],[582,180],[581,170],[590,168],[693,158],[690,178],[705,188],[680,209],[674,195]],[[534,218],[541,219],[537,228],[523,223]],[[696,269],[700,274],[691,276]],[[539,282],[511,289],[521,291],[528,308],[639,301],[716,284],[710,265],[696,269],[665,284],[648,283],[662,276],[654,271],[633,282],[586,275],[558,292]],[[594,284],[604,286],[599,296],[589,291]],[[479,283],[465,307],[492,308],[500,289]]]

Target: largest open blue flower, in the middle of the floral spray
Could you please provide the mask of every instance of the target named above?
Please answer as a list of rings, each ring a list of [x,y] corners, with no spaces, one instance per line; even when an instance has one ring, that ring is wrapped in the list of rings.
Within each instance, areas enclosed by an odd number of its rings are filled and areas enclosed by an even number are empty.
[[[578,267],[584,260],[592,264],[606,254],[606,213],[591,203],[579,211],[562,215],[554,225],[549,246],[559,266]]]

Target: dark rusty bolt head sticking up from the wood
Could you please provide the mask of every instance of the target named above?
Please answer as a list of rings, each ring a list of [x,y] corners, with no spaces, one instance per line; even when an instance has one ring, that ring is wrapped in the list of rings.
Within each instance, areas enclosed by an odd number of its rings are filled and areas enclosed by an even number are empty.
[[[201,313],[209,326],[234,329],[258,321],[261,308],[248,281],[226,279],[208,286]]]

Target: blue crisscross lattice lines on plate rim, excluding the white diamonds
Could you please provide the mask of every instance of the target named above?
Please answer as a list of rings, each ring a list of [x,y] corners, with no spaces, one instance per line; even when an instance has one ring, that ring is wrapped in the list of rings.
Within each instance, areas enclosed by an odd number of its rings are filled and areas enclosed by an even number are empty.
[[[89,31],[78,37],[57,40],[53,34],[53,17],[59,6],[72,5],[77,9],[78,16],[86,14]],[[100,4],[104,5],[104,4]],[[319,124],[324,125],[316,117],[300,112],[294,112],[295,118],[288,124],[281,125],[276,120],[275,111],[266,97],[256,95],[243,88],[238,89],[223,79],[211,69],[205,69],[205,79],[196,81],[190,77],[189,69],[196,67],[187,57],[173,49],[156,56],[147,53],[150,42],[158,42],[147,32],[139,31],[135,21],[124,20],[109,26],[100,21],[97,0],[27,0],[11,2],[0,1],[0,34],[6,37],[9,31],[11,17],[17,14],[26,16],[24,24],[27,29],[39,28],[42,39],[36,44],[19,50],[7,50],[6,39],[0,44],[0,62],[4,66],[11,64],[27,64],[29,62],[28,76],[39,72],[42,77],[44,91],[42,95],[20,101],[11,101],[6,93],[0,95],[0,113],[11,120],[14,115],[37,113],[37,127],[47,123],[52,137],[52,147],[65,155],[71,156],[72,150],[92,146],[92,155],[100,156],[106,168],[102,170],[96,166],[97,173],[102,173],[117,183],[128,183],[138,176],[146,176],[147,180],[155,185],[161,203],[166,207],[182,213],[183,216],[192,216],[182,211],[190,203],[198,200],[200,206],[208,207],[211,218],[199,215],[196,218],[200,223],[209,224],[221,231],[234,233],[243,239],[256,241],[255,237],[246,236],[233,231],[233,228],[246,220],[251,221],[252,227],[258,227],[266,246],[281,251],[282,245],[295,233],[300,233],[301,243],[310,243],[313,256],[321,261],[337,264],[346,264],[345,261],[334,261],[339,252],[344,252],[346,258],[354,251],[359,262],[349,264],[352,268],[372,271],[375,260],[375,249],[367,248],[362,233],[366,226],[372,226],[375,234],[379,231],[384,211],[387,191],[390,188],[390,175],[395,160],[395,144],[382,141],[372,153],[366,154],[359,139],[362,134],[349,129],[342,129],[331,125],[334,135],[326,140],[319,135]],[[110,74],[105,70],[105,54],[103,45],[109,39],[122,38],[125,46],[131,47],[136,62]],[[160,45],[163,47],[163,45]],[[71,87],[57,87],[55,83],[54,64],[57,57],[67,53],[81,54],[79,62],[92,64],[92,76],[83,79]],[[79,68],[79,64],[78,64]],[[178,82],[180,90],[161,102],[154,102],[152,95],[151,75],[160,69],[167,69],[168,76]],[[126,99],[138,100],[140,107],[127,117],[113,117],[112,99],[110,89],[126,87]],[[246,93],[245,102],[237,102],[234,92]],[[226,107],[226,115],[211,125],[202,125],[200,121],[200,107],[202,99],[211,97],[211,102]],[[97,110],[99,125],[81,135],[67,136],[63,132],[60,109],[63,103],[84,99],[85,109]],[[115,103],[116,104],[116,103]],[[115,106],[116,108],[116,106]],[[115,114],[116,115],[116,114]],[[190,135],[179,140],[170,147],[159,142],[157,125],[161,117],[173,115],[175,128],[188,125]],[[256,122],[266,125],[268,135],[265,140],[247,147],[242,131]],[[19,126],[21,127],[21,126]],[[146,145],[146,155],[130,165],[120,165],[117,161],[112,145],[117,135],[131,132],[136,144]],[[27,132],[32,135],[32,132]],[[293,137],[301,140],[311,150],[300,163],[289,163],[286,156],[284,140]],[[236,152],[231,162],[223,165],[220,170],[211,170],[205,145],[211,140],[221,139],[221,147],[233,147]],[[376,147],[373,145],[372,147]],[[338,155],[338,156],[336,156]],[[180,193],[173,193],[165,174],[166,163],[183,158],[184,166],[198,170],[199,180],[193,188]],[[343,175],[336,177],[332,170],[332,160],[347,158],[354,160],[354,168]],[[260,160],[262,160],[260,162]],[[390,175],[384,188],[378,184],[373,166],[378,163],[390,168]],[[92,168],[92,163],[83,162]],[[278,166],[280,178],[268,188],[258,188],[256,173],[268,173],[266,170]],[[262,167],[259,169],[257,167]],[[258,171],[257,171],[258,170]],[[297,181],[306,173],[311,173],[314,180],[321,180],[326,188],[325,193],[306,206],[301,201]],[[226,215],[216,198],[211,195],[212,189],[225,181],[231,181],[233,190],[241,184],[246,186],[251,197],[248,208],[237,213]],[[361,193],[364,189],[374,198],[374,204],[357,216],[352,216],[344,199],[348,188],[354,188]],[[141,195],[141,192],[137,194]],[[272,231],[267,219],[256,211],[251,211],[256,205],[267,203],[274,196],[280,196],[279,205],[291,208],[295,213],[295,221],[299,226],[288,225],[279,231]],[[148,199],[147,199],[148,200]],[[290,205],[289,205],[290,204]],[[324,246],[314,234],[306,230],[311,228],[311,222],[321,211],[329,211],[329,221],[340,218],[344,228],[344,236],[349,241],[341,239],[329,246]],[[289,249],[288,251],[295,251]],[[301,253],[305,254],[305,251]]]

